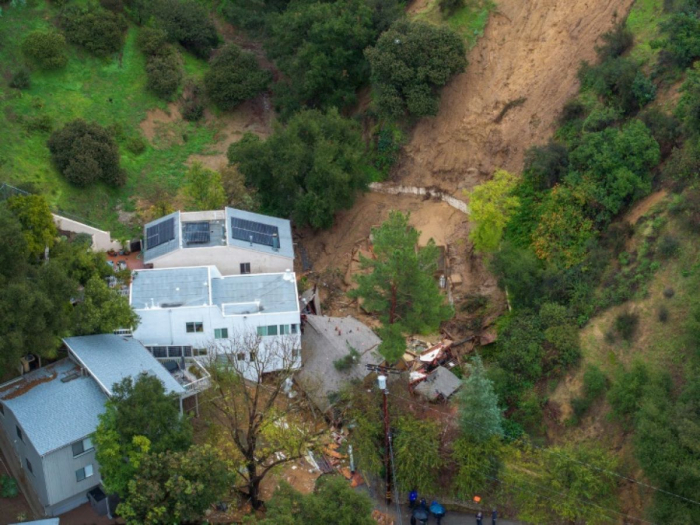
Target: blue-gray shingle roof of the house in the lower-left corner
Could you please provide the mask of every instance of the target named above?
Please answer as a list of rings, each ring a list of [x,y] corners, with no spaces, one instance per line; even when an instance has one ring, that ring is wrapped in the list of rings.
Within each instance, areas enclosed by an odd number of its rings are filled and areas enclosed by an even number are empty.
[[[72,379],[61,381],[67,377]],[[75,363],[64,359],[5,387],[0,399],[43,456],[92,434],[107,396],[91,377],[79,374]]]

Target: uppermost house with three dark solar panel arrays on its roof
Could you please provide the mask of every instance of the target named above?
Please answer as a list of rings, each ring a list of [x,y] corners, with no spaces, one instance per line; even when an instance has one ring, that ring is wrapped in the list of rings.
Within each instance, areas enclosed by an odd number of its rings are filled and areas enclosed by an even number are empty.
[[[143,260],[153,268],[214,265],[222,275],[294,267],[289,221],[237,210],[171,213],[144,226]]]

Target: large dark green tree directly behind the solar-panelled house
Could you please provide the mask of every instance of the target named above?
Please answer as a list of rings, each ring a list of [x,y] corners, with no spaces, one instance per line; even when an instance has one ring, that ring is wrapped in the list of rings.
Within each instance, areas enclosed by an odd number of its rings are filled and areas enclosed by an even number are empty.
[[[365,189],[359,126],[328,113],[305,110],[266,140],[246,134],[228,158],[257,189],[264,211],[292,216],[300,226],[328,228],[335,212],[352,207]]]

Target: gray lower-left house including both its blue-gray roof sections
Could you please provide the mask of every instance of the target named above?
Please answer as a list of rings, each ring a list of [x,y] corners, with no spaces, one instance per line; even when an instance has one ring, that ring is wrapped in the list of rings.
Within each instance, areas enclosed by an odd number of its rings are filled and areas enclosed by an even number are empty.
[[[91,439],[114,383],[158,377],[180,399],[191,394],[132,338],[65,339],[68,358],[0,386],[0,447],[46,516],[99,499],[100,470]],[[21,470],[19,470],[19,468]]]

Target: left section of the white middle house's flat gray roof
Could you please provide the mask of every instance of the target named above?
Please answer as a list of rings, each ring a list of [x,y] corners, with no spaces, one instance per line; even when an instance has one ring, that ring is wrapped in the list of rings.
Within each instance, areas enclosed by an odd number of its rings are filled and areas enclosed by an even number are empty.
[[[205,304],[209,304],[209,271],[206,266],[139,270],[133,273],[131,306],[136,309]]]

